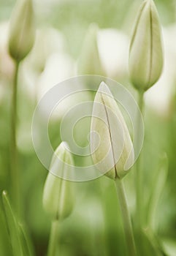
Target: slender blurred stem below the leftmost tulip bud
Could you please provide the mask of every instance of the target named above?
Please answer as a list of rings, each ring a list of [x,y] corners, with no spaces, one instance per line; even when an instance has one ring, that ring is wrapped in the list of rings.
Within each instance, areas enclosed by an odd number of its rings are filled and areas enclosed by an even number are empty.
[[[20,62],[15,61],[15,75],[12,86],[11,102],[11,140],[10,140],[10,159],[11,159],[11,184],[12,184],[12,203],[15,211],[20,215],[20,176],[17,161],[16,129],[17,129],[17,91],[18,91],[18,70]]]

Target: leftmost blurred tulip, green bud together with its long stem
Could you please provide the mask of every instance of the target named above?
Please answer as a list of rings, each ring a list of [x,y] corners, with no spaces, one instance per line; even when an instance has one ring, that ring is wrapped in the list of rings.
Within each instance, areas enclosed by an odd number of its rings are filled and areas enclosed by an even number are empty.
[[[20,170],[18,166],[18,152],[16,141],[16,129],[18,124],[18,71],[20,62],[26,58],[34,44],[34,17],[31,0],[19,0],[12,13],[9,29],[9,54],[14,60],[15,75],[12,86],[11,103],[11,183],[12,197],[15,203],[15,211],[21,215],[20,200]]]

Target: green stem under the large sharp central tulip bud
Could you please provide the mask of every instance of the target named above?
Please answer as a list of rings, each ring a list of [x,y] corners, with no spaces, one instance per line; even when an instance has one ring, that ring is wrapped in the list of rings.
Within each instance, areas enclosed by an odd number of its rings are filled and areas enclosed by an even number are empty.
[[[137,255],[137,252],[134,244],[134,234],[132,230],[131,218],[129,215],[129,209],[126,200],[126,193],[123,187],[123,181],[121,181],[119,178],[116,178],[115,184],[117,188],[118,199],[123,218],[123,228],[126,236],[126,244],[128,246],[129,255],[135,256]]]

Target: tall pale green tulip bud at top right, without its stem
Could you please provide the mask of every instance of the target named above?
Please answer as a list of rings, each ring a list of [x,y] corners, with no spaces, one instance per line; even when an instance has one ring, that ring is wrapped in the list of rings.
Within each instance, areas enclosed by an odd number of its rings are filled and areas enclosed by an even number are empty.
[[[139,90],[148,90],[161,76],[163,47],[161,26],[153,0],[143,1],[129,50],[131,83]]]

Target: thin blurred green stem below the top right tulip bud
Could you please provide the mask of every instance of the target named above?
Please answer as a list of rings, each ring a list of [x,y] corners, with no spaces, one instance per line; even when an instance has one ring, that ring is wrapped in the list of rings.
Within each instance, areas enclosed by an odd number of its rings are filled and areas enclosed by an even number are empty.
[[[138,100],[139,109],[141,111],[141,114],[143,113],[143,107],[144,107],[144,91],[139,91],[139,100]],[[137,127],[138,127],[138,133],[140,129],[139,119],[140,116],[137,116]],[[139,144],[139,143],[138,143]],[[143,200],[143,182],[142,182],[142,157],[141,155],[137,159],[136,164],[136,172],[135,172],[135,182],[136,182],[136,224],[137,228],[142,228],[142,200]]]

